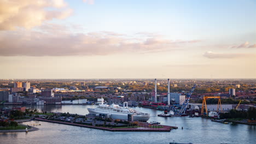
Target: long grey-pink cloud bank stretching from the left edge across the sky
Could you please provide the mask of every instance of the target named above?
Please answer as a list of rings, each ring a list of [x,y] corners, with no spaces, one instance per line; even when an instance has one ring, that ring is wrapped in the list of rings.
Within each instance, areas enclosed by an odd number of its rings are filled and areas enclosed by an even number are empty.
[[[193,40],[177,41],[158,37],[136,39],[106,31],[73,33],[69,29],[68,26],[47,23],[31,31],[2,31],[0,56],[92,56],[124,52],[164,52],[182,49],[181,47],[194,43]]]

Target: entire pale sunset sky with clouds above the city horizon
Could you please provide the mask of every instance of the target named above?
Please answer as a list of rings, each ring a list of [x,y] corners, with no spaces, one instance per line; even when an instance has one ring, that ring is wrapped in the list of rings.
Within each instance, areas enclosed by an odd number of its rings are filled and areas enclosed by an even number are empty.
[[[3,0],[0,79],[256,79],[256,1]]]

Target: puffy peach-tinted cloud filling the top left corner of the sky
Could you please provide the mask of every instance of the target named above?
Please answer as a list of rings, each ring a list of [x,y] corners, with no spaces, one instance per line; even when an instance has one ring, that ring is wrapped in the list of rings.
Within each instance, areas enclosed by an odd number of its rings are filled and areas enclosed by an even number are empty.
[[[72,11],[64,0],[0,1],[0,30],[40,26],[45,21],[65,19]]]

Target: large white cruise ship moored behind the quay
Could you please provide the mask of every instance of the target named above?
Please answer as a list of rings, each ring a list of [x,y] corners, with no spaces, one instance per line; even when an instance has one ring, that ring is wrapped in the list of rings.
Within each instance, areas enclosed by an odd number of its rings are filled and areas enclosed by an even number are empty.
[[[108,114],[114,119],[128,119],[128,115],[133,116],[133,121],[142,121],[146,122],[150,118],[150,114],[147,112],[137,111],[128,107],[128,103],[125,102],[124,106],[119,105],[106,105],[103,104],[103,101],[95,109],[88,108],[89,113],[92,114]]]

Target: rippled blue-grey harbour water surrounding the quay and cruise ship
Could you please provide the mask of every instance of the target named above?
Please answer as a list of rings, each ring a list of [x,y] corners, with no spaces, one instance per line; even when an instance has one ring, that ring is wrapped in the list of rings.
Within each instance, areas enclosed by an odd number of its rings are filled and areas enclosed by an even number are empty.
[[[11,106],[8,106],[11,107]],[[94,105],[46,105],[37,106],[38,110],[53,112],[69,112],[85,115],[87,108]],[[158,121],[164,125],[177,126],[170,132],[112,132],[90,128],[74,127],[47,122],[25,122],[24,124],[40,123],[39,130],[26,133],[2,133],[1,143],[254,143],[256,126],[231,125],[211,122],[211,119],[200,117],[158,117],[161,111],[137,107],[138,110],[149,112],[149,121]],[[181,127],[184,129],[182,130]]]

